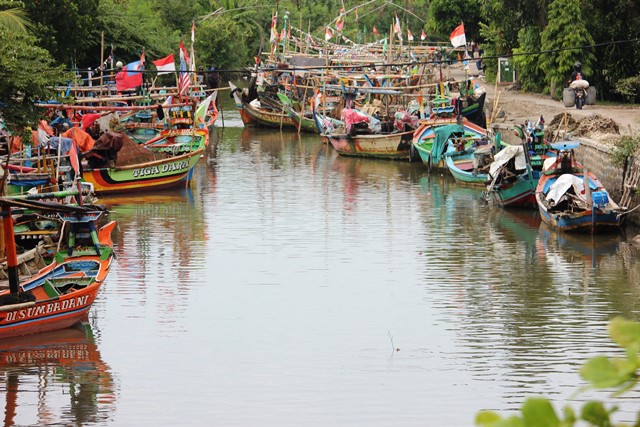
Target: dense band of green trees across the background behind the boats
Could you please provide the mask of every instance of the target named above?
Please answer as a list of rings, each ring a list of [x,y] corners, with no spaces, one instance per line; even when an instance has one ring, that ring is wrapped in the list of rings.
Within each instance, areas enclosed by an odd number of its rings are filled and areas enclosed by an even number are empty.
[[[188,46],[192,21],[196,23],[197,65],[241,69],[253,64],[264,46],[269,49],[271,17],[278,13],[278,30],[285,16],[292,34],[299,30],[323,39],[326,25],[344,6],[345,25],[333,41],[370,42],[388,37],[396,16],[419,42],[447,42],[450,32],[464,22],[467,41],[480,42],[489,57],[487,78],[495,75],[495,56],[520,54],[516,71],[526,90],[558,94],[576,60],[598,93],[617,101],[637,101],[625,80],[640,69],[640,0],[1,0],[23,4],[37,44],[66,67],[100,65],[101,33],[107,57],[113,47],[116,60],[147,60],[178,53],[178,42]],[[4,9],[7,9],[5,7]],[[356,13],[357,10],[357,13]],[[0,24],[5,17],[0,14]],[[6,21],[10,22],[10,21]],[[635,41],[634,41],[635,40]],[[612,41],[624,41],[611,43]],[[397,39],[396,39],[397,42]],[[579,48],[579,47],[583,48]],[[571,48],[571,49],[567,49]],[[576,48],[576,49],[574,49]],[[567,50],[558,50],[567,49]],[[547,54],[537,54],[551,50]],[[629,84],[627,83],[627,86]]]

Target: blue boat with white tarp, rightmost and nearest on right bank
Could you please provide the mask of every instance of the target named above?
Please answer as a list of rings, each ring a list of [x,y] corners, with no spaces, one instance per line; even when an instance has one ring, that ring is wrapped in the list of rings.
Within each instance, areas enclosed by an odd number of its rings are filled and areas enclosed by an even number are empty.
[[[542,220],[556,230],[599,232],[620,227],[620,207],[598,178],[575,159],[577,141],[554,143],[536,187]]]

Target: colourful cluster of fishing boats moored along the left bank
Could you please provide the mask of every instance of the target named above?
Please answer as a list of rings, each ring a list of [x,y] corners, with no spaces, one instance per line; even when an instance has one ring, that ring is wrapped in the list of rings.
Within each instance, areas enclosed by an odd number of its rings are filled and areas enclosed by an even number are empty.
[[[104,223],[96,195],[189,184],[218,115],[217,92],[162,90],[155,102],[150,93],[123,102],[78,91],[88,96],[73,105],[40,104],[29,144],[3,133],[0,339],[86,318],[114,255],[115,222]]]

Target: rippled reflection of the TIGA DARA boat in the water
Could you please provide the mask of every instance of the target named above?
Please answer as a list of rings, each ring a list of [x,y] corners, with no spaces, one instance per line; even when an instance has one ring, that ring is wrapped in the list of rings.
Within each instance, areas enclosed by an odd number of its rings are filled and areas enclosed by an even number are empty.
[[[151,292],[149,283],[153,283],[153,292],[158,294],[152,302],[173,322],[176,312],[187,309],[190,285],[203,277],[207,265],[204,202],[194,200],[192,191],[181,190],[144,199],[109,198],[104,203],[118,220],[117,249],[127,254],[118,258],[116,273],[126,279],[114,280],[111,288],[116,292],[139,291],[135,299],[138,307],[151,303],[146,298]]]

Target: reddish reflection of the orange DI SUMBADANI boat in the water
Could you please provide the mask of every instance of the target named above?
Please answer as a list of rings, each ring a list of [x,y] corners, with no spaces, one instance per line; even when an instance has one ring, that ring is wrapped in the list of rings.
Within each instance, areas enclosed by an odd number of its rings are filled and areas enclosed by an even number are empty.
[[[115,411],[114,377],[88,324],[0,340],[0,377],[5,426],[105,423]]]

